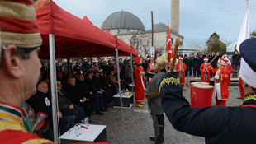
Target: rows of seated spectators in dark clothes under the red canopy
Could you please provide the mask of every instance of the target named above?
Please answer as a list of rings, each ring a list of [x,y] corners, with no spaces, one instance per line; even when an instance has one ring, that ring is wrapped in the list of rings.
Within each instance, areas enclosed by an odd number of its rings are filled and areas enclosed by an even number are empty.
[[[111,105],[113,95],[117,92],[117,70],[120,71],[121,90],[127,89],[131,83],[131,63],[129,58],[119,59],[120,67],[116,67],[116,59],[110,58],[106,62],[103,58],[93,62],[92,66],[87,58],[83,62],[73,60],[68,63],[63,60],[56,63],[56,87],[58,93],[60,134],[73,127],[74,123],[80,123],[92,114],[103,115]],[[68,72],[70,70],[70,72]],[[26,100],[26,108],[33,109],[33,114],[45,113],[46,121],[52,125],[51,93],[50,93],[50,65],[42,63],[42,79],[37,85],[37,92]],[[32,113],[31,113],[32,114]],[[29,115],[29,118],[30,117]],[[31,121],[31,125],[33,121]],[[52,137],[47,137],[52,139]]]

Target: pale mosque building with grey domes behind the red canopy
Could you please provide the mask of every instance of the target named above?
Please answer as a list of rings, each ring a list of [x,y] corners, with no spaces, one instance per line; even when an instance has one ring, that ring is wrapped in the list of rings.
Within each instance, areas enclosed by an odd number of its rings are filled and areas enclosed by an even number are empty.
[[[140,19],[130,12],[114,12],[102,23],[102,30],[108,30],[112,35],[116,35],[126,44],[132,45],[139,51],[140,56],[148,56],[152,46],[152,30],[145,30],[145,26]],[[154,24],[154,47],[158,49],[158,54],[165,53],[168,26],[164,23]],[[172,45],[176,39],[180,39],[183,45],[183,35],[179,35],[176,30],[171,29]]]

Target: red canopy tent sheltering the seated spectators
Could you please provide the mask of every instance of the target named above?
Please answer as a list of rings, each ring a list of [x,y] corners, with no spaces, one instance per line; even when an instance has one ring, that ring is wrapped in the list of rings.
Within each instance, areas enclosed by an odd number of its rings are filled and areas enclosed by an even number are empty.
[[[138,55],[121,39],[64,11],[53,1],[36,10],[36,18],[43,39],[40,58],[49,58],[49,34],[55,35],[56,58],[114,56],[115,49],[119,56]]]

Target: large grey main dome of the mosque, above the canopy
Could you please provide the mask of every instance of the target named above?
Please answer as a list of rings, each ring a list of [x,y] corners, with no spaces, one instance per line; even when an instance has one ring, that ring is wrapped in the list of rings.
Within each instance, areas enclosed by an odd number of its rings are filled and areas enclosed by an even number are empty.
[[[130,12],[114,12],[102,23],[102,30],[129,29],[143,30],[145,27],[140,19]]]

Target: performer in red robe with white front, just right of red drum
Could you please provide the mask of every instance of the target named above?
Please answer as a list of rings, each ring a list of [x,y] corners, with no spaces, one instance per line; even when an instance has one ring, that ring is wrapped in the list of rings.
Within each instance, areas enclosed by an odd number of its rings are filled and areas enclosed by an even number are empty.
[[[216,98],[216,105],[214,106],[226,106],[226,100],[229,100],[229,72],[225,68],[226,63],[225,59],[219,58],[217,63],[218,68],[213,71],[215,74],[213,78],[215,81],[213,96]]]

